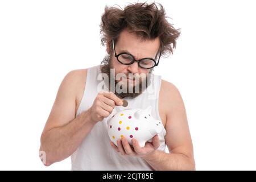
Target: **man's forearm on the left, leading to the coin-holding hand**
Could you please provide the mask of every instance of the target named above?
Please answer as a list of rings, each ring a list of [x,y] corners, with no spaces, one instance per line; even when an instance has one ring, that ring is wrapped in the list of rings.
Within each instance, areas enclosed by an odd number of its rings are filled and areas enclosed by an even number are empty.
[[[67,125],[43,133],[40,151],[46,152],[46,165],[72,155],[94,125],[90,120],[89,111],[85,111]]]

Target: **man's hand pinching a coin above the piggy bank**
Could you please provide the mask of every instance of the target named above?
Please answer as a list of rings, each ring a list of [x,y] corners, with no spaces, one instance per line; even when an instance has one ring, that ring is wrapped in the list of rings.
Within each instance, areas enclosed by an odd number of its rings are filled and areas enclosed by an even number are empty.
[[[115,106],[122,106],[123,101],[112,92],[100,92],[96,96],[92,107],[90,107],[90,117],[93,122],[102,121],[108,117]]]

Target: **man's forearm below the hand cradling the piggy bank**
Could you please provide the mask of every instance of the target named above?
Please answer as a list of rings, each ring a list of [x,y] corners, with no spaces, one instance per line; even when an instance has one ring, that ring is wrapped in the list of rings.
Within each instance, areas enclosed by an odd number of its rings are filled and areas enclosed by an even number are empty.
[[[156,150],[154,153],[143,158],[155,170],[195,170],[195,162],[183,154],[167,154]]]

